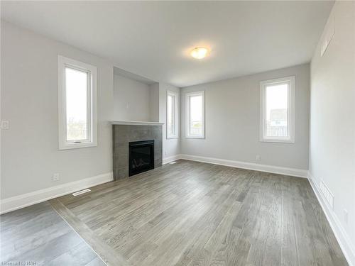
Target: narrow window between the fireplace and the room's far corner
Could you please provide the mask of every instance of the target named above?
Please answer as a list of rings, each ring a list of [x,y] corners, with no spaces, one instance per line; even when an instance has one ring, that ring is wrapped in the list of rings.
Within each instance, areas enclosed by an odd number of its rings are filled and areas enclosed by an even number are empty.
[[[177,92],[166,94],[166,138],[179,137],[179,100]]]

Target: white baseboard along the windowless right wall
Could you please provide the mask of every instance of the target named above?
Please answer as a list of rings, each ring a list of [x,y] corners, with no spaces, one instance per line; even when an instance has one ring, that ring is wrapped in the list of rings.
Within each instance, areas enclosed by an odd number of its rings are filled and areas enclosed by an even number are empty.
[[[349,266],[355,266],[355,247],[351,243],[349,235],[344,230],[337,214],[335,214],[335,212],[330,208],[329,204],[327,204],[327,201],[324,199],[324,196],[320,193],[319,180],[315,179],[310,172],[308,173],[308,179],[310,180],[311,187],[320,202],[320,206],[322,206],[323,212],[327,217],[330,227],[338,240],[340,248],[349,263]]]

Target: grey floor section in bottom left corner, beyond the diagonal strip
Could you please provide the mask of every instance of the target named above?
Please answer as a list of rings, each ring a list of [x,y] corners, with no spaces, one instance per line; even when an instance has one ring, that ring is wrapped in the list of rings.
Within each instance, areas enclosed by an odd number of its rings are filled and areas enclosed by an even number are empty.
[[[105,265],[48,202],[1,215],[0,235],[0,265]]]

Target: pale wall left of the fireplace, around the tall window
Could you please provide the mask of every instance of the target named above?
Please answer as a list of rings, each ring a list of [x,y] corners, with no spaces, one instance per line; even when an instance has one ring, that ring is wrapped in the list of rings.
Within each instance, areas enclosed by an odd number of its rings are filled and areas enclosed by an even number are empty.
[[[58,150],[58,54],[97,66],[95,148]],[[112,171],[113,80],[109,62],[1,21],[1,199]]]

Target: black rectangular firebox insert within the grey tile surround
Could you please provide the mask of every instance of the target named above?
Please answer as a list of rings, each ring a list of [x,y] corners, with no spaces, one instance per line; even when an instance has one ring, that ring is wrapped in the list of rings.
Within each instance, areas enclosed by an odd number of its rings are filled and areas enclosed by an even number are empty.
[[[129,143],[129,176],[154,169],[154,140]]]

